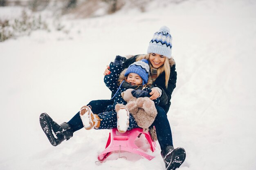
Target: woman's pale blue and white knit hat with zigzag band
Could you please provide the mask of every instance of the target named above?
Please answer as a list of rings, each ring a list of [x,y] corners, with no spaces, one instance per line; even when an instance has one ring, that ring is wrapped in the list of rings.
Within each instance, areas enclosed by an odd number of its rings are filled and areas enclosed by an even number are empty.
[[[172,36],[170,29],[163,26],[158,32],[155,32],[152,40],[149,42],[147,53],[155,53],[171,58],[172,54]]]

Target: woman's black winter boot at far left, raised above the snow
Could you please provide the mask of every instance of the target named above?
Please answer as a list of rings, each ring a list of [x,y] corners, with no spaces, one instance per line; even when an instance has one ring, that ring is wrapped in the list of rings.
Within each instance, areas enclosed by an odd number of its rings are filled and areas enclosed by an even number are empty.
[[[73,136],[73,131],[69,124],[64,122],[58,125],[46,113],[40,114],[39,121],[41,128],[53,146],[57,146],[65,139],[68,140]]]

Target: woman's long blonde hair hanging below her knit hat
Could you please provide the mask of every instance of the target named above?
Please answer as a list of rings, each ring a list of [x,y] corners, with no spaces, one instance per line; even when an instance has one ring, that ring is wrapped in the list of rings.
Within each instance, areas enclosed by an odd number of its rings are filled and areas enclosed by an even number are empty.
[[[136,59],[136,61],[139,61],[139,60],[142,60],[142,59],[146,59],[148,60],[148,63],[149,63],[149,66],[150,66],[150,71],[151,71],[151,74],[152,74],[152,67],[153,65],[150,63],[150,60],[149,60],[149,56],[150,54],[145,54],[145,55],[139,55]],[[171,65],[171,60],[173,60],[172,58],[171,59],[168,59],[167,57],[165,58],[164,60],[164,64],[162,66],[160,66],[159,68],[157,68],[157,77],[162,73],[162,72],[165,72],[165,86],[167,88],[168,86],[168,81],[169,81],[169,78],[170,78],[170,65]]]

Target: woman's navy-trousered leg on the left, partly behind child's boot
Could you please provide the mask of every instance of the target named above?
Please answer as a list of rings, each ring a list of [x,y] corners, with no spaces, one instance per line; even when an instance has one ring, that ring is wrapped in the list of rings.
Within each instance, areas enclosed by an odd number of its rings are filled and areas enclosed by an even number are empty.
[[[88,106],[92,107],[92,112],[94,114],[98,114],[106,111],[108,105],[112,105],[112,104],[113,104],[112,100],[95,100],[95,101],[90,101],[90,103],[88,103]],[[76,113],[74,117],[70,119],[70,121],[68,121],[67,123],[71,126],[73,132],[83,128],[83,122],[80,118],[79,112]]]

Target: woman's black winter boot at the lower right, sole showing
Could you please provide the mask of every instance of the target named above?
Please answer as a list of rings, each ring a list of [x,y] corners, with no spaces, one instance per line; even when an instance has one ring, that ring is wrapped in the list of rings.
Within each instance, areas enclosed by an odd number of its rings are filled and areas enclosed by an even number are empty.
[[[166,170],[175,170],[179,168],[186,158],[186,152],[184,148],[176,148],[173,146],[167,146],[161,151],[161,155],[164,159]]]

